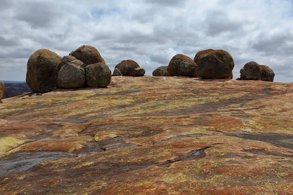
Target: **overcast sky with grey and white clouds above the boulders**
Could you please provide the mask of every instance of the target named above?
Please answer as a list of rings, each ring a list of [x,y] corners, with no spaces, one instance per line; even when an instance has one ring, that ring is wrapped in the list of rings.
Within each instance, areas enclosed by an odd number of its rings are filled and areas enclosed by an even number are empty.
[[[234,79],[249,61],[293,82],[293,0],[0,0],[0,80],[25,81],[36,50],[96,47],[113,72],[133,59],[146,75],[176,54],[223,49]]]

